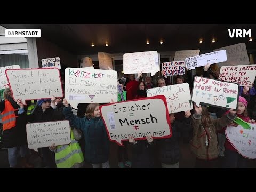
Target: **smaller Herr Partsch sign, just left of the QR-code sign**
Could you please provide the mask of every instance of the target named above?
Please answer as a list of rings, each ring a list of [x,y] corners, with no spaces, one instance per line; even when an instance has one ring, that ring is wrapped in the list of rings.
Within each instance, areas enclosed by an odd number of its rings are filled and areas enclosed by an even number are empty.
[[[170,75],[184,75],[185,74],[185,62],[184,61],[173,61],[162,63],[163,76],[167,77]]]

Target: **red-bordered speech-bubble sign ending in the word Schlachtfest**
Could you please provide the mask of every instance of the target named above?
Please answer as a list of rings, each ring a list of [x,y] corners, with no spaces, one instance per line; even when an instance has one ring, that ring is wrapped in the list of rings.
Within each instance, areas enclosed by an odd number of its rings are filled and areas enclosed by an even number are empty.
[[[63,97],[60,71],[57,68],[7,69],[13,99],[34,100]]]

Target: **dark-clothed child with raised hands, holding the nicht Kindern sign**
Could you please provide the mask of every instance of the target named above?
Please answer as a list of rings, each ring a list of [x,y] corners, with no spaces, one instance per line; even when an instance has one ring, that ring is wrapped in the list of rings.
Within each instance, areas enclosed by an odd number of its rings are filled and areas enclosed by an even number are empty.
[[[190,129],[190,110],[185,112],[184,127],[183,129]],[[158,139],[157,146],[161,153],[162,168],[179,168],[180,161],[180,147],[179,138],[180,132],[183,130],[175,124],[174,114],[169,114],[170,122],[172,125],[172,137],[166,139]],[[173,123],[174,122],[174,123]]]

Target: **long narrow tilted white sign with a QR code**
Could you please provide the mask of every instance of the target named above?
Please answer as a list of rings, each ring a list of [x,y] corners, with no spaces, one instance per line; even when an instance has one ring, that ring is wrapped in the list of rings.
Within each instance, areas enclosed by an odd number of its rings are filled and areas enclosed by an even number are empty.
[[[186,68],[195,68],[205,66],[207,63],[219,63],[227,60],[226,50],[214,51],[211,53],[205,53],[194,57],[186,58]]]

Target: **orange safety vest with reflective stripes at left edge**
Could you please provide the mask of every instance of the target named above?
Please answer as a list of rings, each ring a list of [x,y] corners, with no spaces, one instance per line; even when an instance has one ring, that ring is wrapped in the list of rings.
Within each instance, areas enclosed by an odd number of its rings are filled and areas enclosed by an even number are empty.
[[[15,115],[15,111],[18,111],[18,109],[14,109],[11,102],[5,100],[4,110],[1,113],[3,130],[11,129],[16,126],[16,117],[18,116]]]

